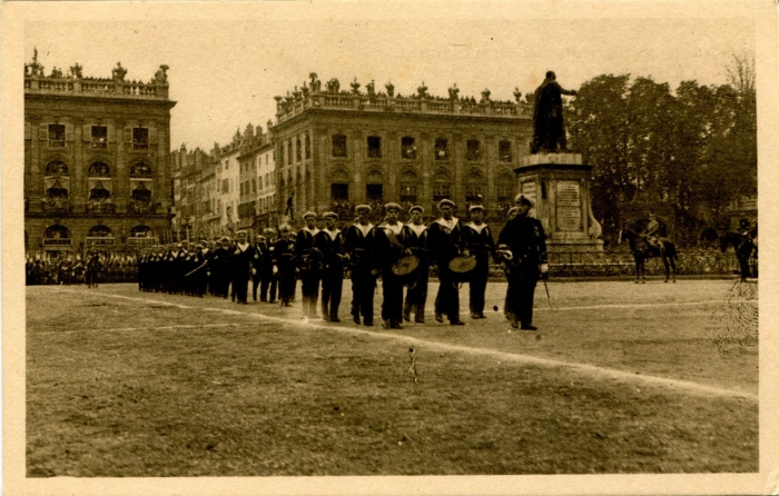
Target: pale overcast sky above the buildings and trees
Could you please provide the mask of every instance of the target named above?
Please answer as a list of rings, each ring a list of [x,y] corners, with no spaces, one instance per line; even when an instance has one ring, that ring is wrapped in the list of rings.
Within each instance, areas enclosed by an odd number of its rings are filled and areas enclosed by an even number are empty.
[[[323,81],[338,78],[342,89],[356,77],[361,90],[374,79],[377,90],[392,81],[408,95],[424,81],[446,96],[456,82],[461,96],[479,98],[489,88],[501,100],[513,99],[515,87],[534,90],[549,69],[572,89],[603,73],[651,76],[673,89],[682,80],[726,82],[733,54],[751,57],[756,37],[749,10],[712,12],[691,2],[662,10],[628,1],[608,9],[511,1],[60,3],[69,10],[28,16],[26,61],[37,47],[47,75],[79,62],[85,76],[110,77],[121,61],[128,79],[144,81],[168,65],[178,102],[171,147],[190,149],[224,145],[249,122],[265,128],[275,118],[273,97],[312,71]]]

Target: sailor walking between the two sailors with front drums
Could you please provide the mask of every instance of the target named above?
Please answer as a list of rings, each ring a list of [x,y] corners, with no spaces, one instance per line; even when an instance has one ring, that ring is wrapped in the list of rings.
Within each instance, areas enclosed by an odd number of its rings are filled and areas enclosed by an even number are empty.
[[[413,274],[413,279],[408,282],[406,291],[406,302],[403,306],[403,319],[411,320],[411,313],[414,310],[414,321],[417,324],[425,323],[425,302],[427,301],[427,279],[430,277],[430,260],[427,260],[427,226],[422,222],[422,216],[425,209],[418,205],[413,206],[411,214],[411,222],[403,226],[405,231],[404,238],[407,240],[407,247],[412,255],[420,259],[420,265]]]

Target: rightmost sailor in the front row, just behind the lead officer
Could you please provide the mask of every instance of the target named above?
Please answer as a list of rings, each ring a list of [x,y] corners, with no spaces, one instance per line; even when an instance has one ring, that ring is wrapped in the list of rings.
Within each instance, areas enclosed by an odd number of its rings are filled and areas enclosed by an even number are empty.
[[[469,280],[471,318],[481,319],[484,316],[484,292],[490,277],[490,257],[495,258],[495,241],[490,226],[484,224],[484,206],[472,205],[471,222],[465,225],[463,235],[467,240],[471,255],[476,257],[476,268]]]

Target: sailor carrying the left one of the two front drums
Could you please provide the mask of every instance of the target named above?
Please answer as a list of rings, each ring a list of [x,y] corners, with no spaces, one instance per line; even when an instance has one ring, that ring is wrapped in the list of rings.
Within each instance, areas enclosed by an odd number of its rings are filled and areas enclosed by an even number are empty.
[[[385,221],[376,229],[374,238],[374,267],[382,276],[382,326],[385,329],[403,329],[403,280],[393,272],[393,265],[405,255],[406,247],[403,224],[397,220],[401,206],[394,202],[384,206]]]

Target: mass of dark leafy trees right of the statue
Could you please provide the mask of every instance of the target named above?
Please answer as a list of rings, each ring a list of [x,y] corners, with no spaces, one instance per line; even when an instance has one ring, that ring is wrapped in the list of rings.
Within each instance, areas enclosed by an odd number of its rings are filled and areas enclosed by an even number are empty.
[[[593,163],[595,216],[612,236],[631,216],[667,212],[697,241],[731,200],[757,194],[755,67],[734,58],[729,85],[667,83],[630,75],[585,82],[566,103],[569,143]]]

